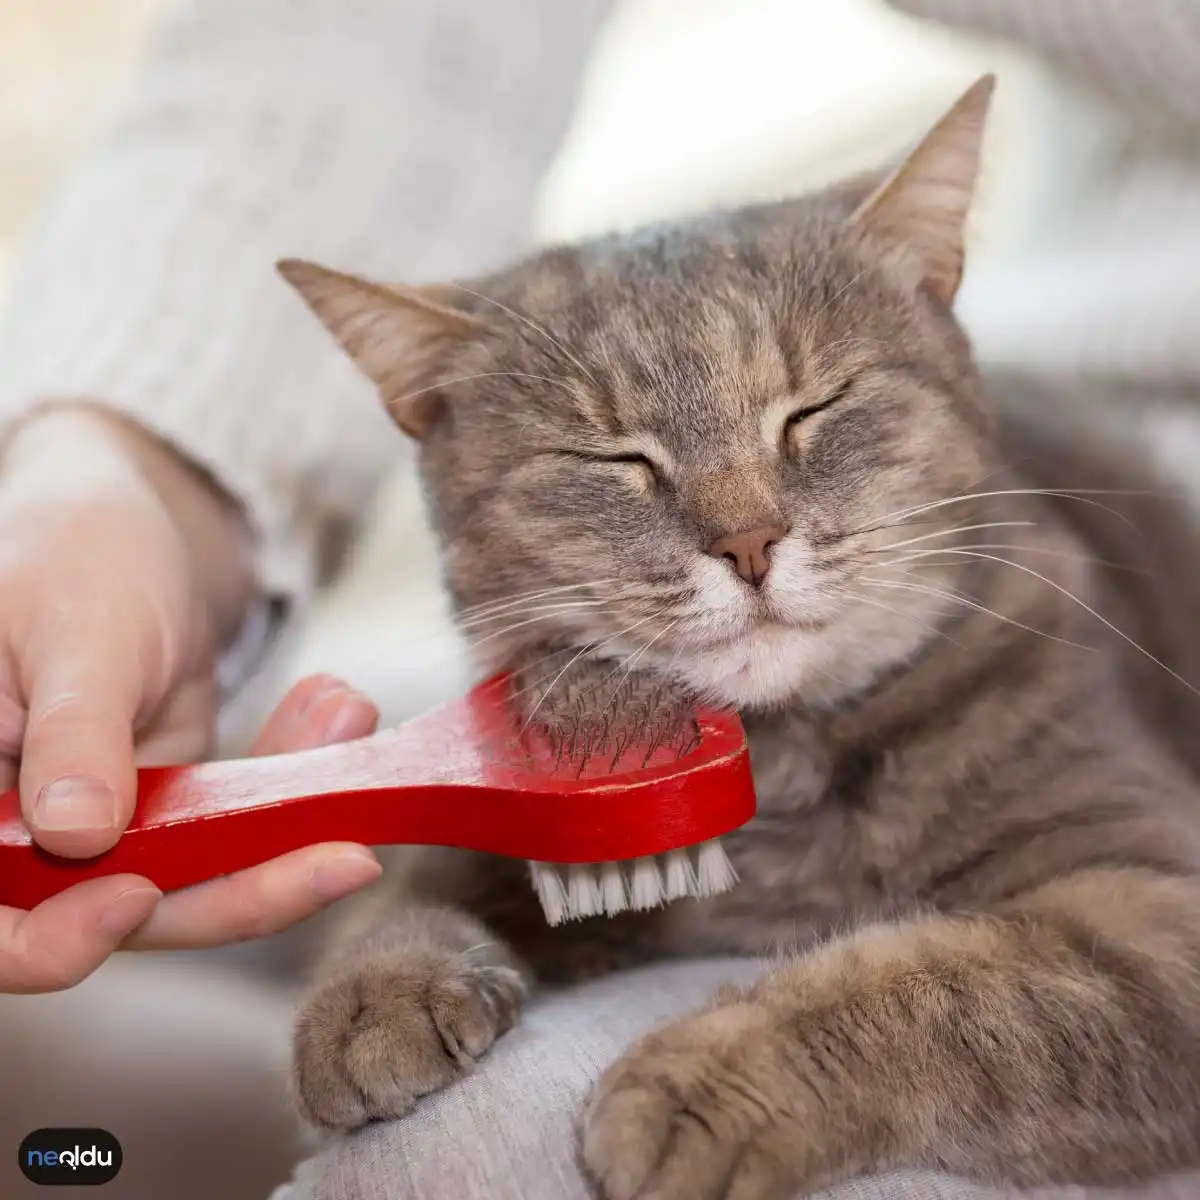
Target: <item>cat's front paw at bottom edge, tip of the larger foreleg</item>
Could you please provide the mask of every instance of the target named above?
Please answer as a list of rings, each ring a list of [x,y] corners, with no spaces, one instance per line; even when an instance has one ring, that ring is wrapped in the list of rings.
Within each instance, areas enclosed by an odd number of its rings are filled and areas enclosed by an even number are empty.
[[[605,1200],[774,1200],[796,1194],[778,1157],[775,1031],[752,1002],[722,1004],[642,1040],[596,1085],[583,1162]]]

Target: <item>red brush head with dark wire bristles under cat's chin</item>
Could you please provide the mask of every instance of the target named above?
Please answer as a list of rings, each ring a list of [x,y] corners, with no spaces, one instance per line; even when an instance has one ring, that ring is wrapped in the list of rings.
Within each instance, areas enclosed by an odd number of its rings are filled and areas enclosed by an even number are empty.
[[[498,852],[625,862],[700,846],[754,815],[736,714],[694,708],[649,678],[626,680],[616,700],[611,682],[601,688],[586,674],[544,686],[497,677],[460,710],[470,722],[460,745],[478,752],[481,782],[504,793],[494,811],[512,839]],[[534,797],[523,809],[518,798]]]

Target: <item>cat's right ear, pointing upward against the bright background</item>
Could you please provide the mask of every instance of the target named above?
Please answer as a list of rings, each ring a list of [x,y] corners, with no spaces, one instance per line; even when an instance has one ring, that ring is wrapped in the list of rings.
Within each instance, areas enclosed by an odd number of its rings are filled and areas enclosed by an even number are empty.
[[[863,200],[850,226],[899,257],[946,304],[962,280],[967,212],[996,83],[978,79]]]

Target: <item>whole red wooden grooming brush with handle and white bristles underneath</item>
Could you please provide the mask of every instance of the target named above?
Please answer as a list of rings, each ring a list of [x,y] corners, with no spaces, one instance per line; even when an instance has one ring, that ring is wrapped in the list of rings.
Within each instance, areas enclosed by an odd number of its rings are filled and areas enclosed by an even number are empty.
[[[493,679],[343,745],[144,768],[133,822],[98,858],[55,858],[34,846],[18,796],[7,792],[0,904],[30,908],[82,880],[124,871],[182,888],[320,841],[529,859],[551,924],[733,886],[714,839],[755,810],[734,715],[697,714],[698,737],[685,745],[556,754],[516,722],[506,688]]]

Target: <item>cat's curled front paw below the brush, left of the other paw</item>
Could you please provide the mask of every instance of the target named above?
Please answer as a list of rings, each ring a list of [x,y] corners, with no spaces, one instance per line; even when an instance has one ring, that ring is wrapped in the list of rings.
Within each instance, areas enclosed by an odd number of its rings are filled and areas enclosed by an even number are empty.
[[[469,954],[382,955],[334,976],[296,1021],[301,1115],[329,1129],[403,1116],[474,1066],[516,1022],[524,994],[518,971]]]

